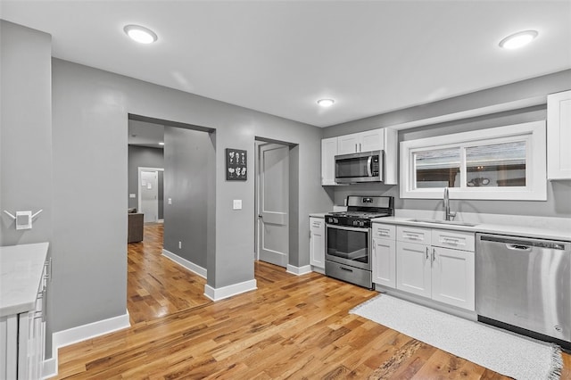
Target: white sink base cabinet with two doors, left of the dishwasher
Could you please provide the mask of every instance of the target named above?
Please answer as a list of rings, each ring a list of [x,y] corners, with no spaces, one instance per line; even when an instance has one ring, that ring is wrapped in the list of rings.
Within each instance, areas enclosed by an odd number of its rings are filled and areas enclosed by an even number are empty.
[[[474,233],[397,226],[395,251],[397,289],[475,310]]]

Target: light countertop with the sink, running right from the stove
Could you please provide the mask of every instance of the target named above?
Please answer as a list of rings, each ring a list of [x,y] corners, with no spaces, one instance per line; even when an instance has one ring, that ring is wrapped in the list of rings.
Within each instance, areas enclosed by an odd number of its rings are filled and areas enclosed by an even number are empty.
[[[411,221],[414,218],[388,217],[372,219],[374,223],[396,224],[402,226],[428,227],[439,229],[453,229],[457,231],[483,232],[487,234],[514,235],[521,237],[534,237],[542,239],[571,241],[571,229],[567,227],[552,226],[523,226],[501,223],[473,222],[476,226],[447,225],[440,223],[422,223]]]

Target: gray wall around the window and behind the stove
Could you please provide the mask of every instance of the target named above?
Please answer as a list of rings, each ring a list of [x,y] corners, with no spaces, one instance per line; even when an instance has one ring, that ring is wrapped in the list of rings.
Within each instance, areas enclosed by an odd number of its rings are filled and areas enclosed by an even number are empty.
[[[571,70],[524,80],[506,86],[495,87],[476,93],[412,107],[398,112],[389,112],[371,118],[343,123],[324,128],[323,137],[341,136],[372,128],[383,128],[412,120],[422,120],[448,113],[467,111],[498,103],[507,103],[534,96],[548,95],[571,88]],[[468,130],[484,129],[512,125],[526,121],[545,120],[546,106],[539,105],[523,110],[500,112],[467,120],[451,121],[419,128],[399,131],[399,142],[442,136]],[[571,181],[546,181],[547,202],[538,201],[452,201],[453,211],[484,212],[492,214],[534,215],[545,217],[571,217]],[[384,194],[395,197],[395,207],[412,210],[438,210],[443,208],[440,200],[401,199],[399,186],[362,184],[352,186],[331,186],[335,204],[343,204],[350,194]]]

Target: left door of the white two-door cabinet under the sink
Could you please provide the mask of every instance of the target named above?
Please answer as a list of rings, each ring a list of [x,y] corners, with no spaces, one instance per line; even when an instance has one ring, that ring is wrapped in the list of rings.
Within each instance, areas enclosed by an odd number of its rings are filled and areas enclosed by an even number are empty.
[[[396,242],[396,288],[430,297],[430,264],[428,245]]]

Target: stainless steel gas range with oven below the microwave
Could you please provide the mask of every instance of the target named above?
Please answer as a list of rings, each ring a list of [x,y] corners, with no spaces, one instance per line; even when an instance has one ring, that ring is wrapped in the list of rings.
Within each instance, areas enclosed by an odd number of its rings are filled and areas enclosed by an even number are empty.
[[[392,196],[347,197],[347,211],[325,216],[325,274],[372,289],[371,219],[394,213]]]

